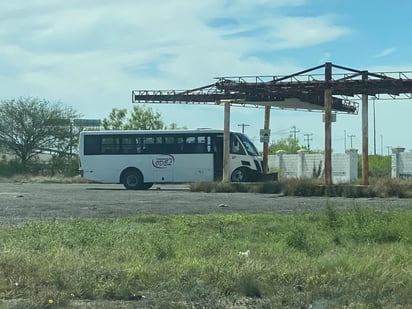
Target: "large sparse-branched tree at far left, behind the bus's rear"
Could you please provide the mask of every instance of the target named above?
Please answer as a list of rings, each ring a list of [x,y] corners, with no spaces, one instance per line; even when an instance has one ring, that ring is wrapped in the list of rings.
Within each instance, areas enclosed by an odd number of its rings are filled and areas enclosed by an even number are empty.
[[[68,151],[75,133],[70,107],[32,97],[0,101],[0,144],[25,164],[42,150]]]

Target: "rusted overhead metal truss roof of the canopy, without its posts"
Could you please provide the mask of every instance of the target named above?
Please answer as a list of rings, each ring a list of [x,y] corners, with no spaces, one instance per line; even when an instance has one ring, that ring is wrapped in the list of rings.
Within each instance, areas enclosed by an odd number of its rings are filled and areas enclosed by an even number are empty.
[[[322,73],[315,71],[324,69]],[[335,69],[335,72],[332,70]],[[338,71],[338,72],[336,72]],[[221,104],[323,110],[324,92],[333,93],[335,112],[358,114],[362,95],[373,100],[412,99],[412,72],[372,73],[325,63],[287,76],[216,77],[191,90],[133,90],[133,103]]]

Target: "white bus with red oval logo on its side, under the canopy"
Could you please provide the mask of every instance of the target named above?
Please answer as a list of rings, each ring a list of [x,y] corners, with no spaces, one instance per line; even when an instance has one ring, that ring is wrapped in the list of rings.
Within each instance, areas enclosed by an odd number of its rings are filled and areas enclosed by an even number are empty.
[[[223,130],[82,131],[79,159],[83,178],[127,189],[221,180]],[[242,133],[230,133],[229,171],[233,182],[262,174],[259,153]]]

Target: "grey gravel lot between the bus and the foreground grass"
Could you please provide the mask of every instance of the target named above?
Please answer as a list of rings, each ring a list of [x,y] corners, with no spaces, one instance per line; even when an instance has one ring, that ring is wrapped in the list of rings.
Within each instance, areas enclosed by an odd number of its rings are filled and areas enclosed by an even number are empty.
[[[132,214],[283,213],[335,207],[412,209],[412,199],[285,197],[276,194],[190,192],[188,185],[154,185],[147,191],[122,185],[0,183],[0,226],[38,220]],[[226,207],[222,207],[224,204]]]

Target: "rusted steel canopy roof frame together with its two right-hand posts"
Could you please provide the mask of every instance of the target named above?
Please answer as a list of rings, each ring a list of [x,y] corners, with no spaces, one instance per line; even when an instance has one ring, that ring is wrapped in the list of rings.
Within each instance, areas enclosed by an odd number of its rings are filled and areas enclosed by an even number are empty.
[[[325,68],[325,80],[299,81],[302,74]],[[340,79],[333,79],[332,68],[353,72]],[[362,77],[361,79],[357,79]],[[402,78],[405,77],[405,78]],[[290,81],[287,81],[290,80]],[[332,97],[341,96],[349,100]],[[358,113],[357,103],[350,97],[361,95],[362,97],[362,152],[363,169],[362,182],[368,183],[368,96],[380,99],[380,95],[389,95],[391,99],[397,99],[401,94],[409,95],[406,99],[412,99],[412,78],[407,78],[400,72],[399,78],[388,77],[384,74],[370,73],[368,71],[355,70],[328,62],[292,75],[273,77],[269,82],[256,76],[255,82],[246,82],[245,78],[238,77],[238,81],[230,78],[219,78],[217,83],[199,87],[196,89],[176,90],[135,90],[132,92],[132,102],[213,102],[220,104],[230,100],[232,104],[247,102],[247,104],[270,105],[270,102],[282,101],[288,98],[297,98],[304,102],[323,106],[325,111],[325,182],[332,184],[331,170],[331,110],[343,111],[352,114]]]

